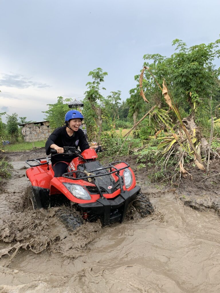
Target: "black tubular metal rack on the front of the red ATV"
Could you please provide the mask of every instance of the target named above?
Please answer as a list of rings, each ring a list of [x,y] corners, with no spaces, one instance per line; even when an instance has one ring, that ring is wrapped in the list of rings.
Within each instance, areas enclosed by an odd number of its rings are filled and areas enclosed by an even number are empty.
[[[122,168],[116,168],[116,167],[114,166],[114,164],[119,164],[119,163],[125,163],[126,166],[125,166],[125,167],[122,167]],[[83,177],[80,178],[80,179],[82,179],[82,180],[84,180],[84,179],[89,179],[89,178],[91,178],[91,180],[94,179],[94,182],[92,182],[92,183],[94,183],[94,184],[96,185],[96,187],[98,188],[100,196],[101,196],[101,197],[104,197],[103,194],[102,194],[102,191],[101,191],[101,189],[100,189],[100,187],[99,187],[99,184],[98,184],[98,182],[95,180],[95,178],[96,178],[96,177],[101,177],[101,176],[108,176],[108,175],[110,175],[110,174],[116,173],[115,175],[119,178],[119,185],[120,185],[120,189],[121,189],[121,192],[122,192],[122,191],[123,191],[122,178],[121,178],[121,176],[119,175],[119,172],[120,172],[121,170],[124,170],[124,169],[129,168],[129,167],[130,167],[130,165],[129,165],[128,163],[126,163],[125,161],[116,161],[116,162],[109,163],[109,166],[107,166],[107,167],[103,167],[103,168],[99,168],[99,169],[91,170],[91,171],[89,171],[89,172],[87,172],[87,173],[85,173],[84,171],[79,171],[79,170],[77,170],[77,171],[72,171],[72,172],[64,173],[64,174],[62,175],[62,177],[65,177],[65,178],[68,178],[68,179],[71,179],[71,180],[79,180],[79,178],[74,178],[74,177],[73,177],[73,174],[74,174],[74,173],[82,173],[82,174],[84,174],[84,175],[89,174],[89,176],[83,176]],[[104,173],[104,174],[91,174],[92,172],[95,172],[95,171],[101,171],[101,170],[106,170],[106,169],[110,169],[110,172],[107,172],[107,173]],[[112,169],[114,169],[114,171],[112,171]]]

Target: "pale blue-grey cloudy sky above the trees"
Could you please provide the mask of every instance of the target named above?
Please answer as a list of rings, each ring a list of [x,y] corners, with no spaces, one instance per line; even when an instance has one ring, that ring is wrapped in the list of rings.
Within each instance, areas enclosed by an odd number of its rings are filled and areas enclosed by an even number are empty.
[[[219,0],[0,0],[0,112],[45,120],[58,96],[82,100],[97,67],[104,96],[126,100],[144,54],[214,42],[219,11]]]

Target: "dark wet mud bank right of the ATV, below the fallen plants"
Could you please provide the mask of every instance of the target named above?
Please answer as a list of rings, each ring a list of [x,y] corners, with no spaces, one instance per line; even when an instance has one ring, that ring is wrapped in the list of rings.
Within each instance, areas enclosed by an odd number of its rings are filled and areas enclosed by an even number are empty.
[[[131,161],[134,161],[131,159]],[[176,182],[165,184],[149,184],[147,176],[152,170],[143,168],[137,170],[135,162],[133,162],[133,170],[138,184],[142,185],[141,190],[148,192],[150,185],[151,196],[154,197],[154,191],[160,190],[160,195],[166,192],[173,192],[184,205],[199,211],[214,211],[220,215],[220,160],[209,166],[209,178],[204,171],[197,168],[190,170],[192,176],[186,178],[176,178]],[[179,177],[179,176],[178,176]],[[157,192],[156,192],[157,193]]]

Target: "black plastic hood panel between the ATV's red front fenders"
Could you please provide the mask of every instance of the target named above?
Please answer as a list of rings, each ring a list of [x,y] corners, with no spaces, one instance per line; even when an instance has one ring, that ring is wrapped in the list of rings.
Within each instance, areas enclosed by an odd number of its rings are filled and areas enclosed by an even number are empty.
[[[92,174],[95,174],[95,175],[108,174],[109,172],[103,168],[104,166],[101,165],[99,161],[88,162],[88,163],[80,164],[77,166],[77,170],[79,171],[86,171],[90,173],[91,170],[96,170],[96,171],[93,171]],[[76,173],[77,178],[83,178],[86,176],[87,176],[86,174],[83,174],[81,172]],[[123,186],[124,185],[123,177],[121,178],[122,178],[122,186]],[[88,179],[85,179],[85,180],[88,181]],[[120,188],[119,180],[115,181],[114,178],[111,176],[111,174],[109,176],[96,177],[96,181],[102,193],[113,193]],[[87,186],[86,188],[91,194],[99,194],[99,190],[96,187]]]

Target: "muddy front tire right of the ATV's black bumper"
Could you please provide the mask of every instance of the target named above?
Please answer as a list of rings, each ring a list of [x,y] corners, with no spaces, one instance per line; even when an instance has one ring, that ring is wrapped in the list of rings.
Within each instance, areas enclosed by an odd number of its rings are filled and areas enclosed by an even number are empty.
[[[136,197],[136,200],[134,200],[128,208],[126,217],[130,220],[140,219],[147,217],[153,213],[153,211],[154,208],[149,197],[140,192]]]

